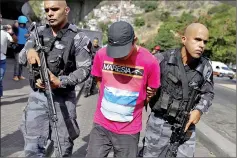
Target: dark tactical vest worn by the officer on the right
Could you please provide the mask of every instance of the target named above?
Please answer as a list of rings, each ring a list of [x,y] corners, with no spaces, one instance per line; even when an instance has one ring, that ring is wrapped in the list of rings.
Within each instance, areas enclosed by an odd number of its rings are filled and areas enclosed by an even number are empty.
[[[177,53],[180,53],[180,50],[174,50],[171,53],[164,54],[164,61],[160,64],[161,87],[149,103],[152,111],[162,112],[171,117],[176,117],[180,106],[183,105],[182,103],[184,102],[184,89],[182,86],[184,74],[178,64],[178,62],[182,61],[181,57],[180,59],[178,58]],[[201,87],[204,82],[203,70],[205,67],[205,61],[203,58],[196,63],[194,62],[193,67],[195,68],[189,70],[189,73],[186,73],[188,95],[190,95],[194,86]]]

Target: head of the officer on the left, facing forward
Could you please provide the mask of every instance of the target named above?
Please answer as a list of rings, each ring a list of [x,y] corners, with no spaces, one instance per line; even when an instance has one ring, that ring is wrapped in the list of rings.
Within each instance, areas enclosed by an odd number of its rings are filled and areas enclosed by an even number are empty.
[[[44,0],[44,10],[52,27],[62,28],[67,23],[70,8],[65,0]]]

